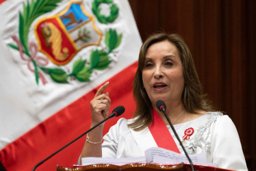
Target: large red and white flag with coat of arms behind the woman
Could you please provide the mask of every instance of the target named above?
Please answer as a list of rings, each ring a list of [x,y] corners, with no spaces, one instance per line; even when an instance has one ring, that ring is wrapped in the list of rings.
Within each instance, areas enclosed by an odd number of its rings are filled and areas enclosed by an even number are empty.
[[[110,112],[123,105],[131,118],[142,42],[127,0],[0,1],[0,16],[0,170],[32,170],[86,132],[107,81]],[[72,167],[85,139],[36,170]]]

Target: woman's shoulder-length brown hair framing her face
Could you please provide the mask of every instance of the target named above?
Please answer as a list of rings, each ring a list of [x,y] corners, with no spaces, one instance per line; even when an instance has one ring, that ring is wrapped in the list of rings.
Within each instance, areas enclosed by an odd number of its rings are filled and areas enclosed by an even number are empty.
[[[196,111],[199,109],[203,111],[213,110],[212,104],[208,101],[206,95],[203,94],[202,86],[194,66],[194,60],[181,36],[178,34],[166,33],[153,34],[146,39],[140,48],[138,68],[133,79],[133,96],[136,101],[136,111],[134,112],[133,117],[137,118],[134,122],[129,124],[129,127],[136,131],[148,127],[152,122],[153,106],[148,94],[146,94],[142,82],[142,70],[144,68],[146,52],[152,44],[166,40],[175,45],[179,51],[179,56],[181,57],[183,77],[185,81],[181,101],[185,110],[193,114],[196,114]]]

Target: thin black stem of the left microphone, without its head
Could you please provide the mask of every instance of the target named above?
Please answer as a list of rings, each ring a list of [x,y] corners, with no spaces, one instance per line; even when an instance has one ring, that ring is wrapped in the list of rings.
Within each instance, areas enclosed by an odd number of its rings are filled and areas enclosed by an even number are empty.
[[[73,140],[72,142],[66,144],[66,146],[63,146],[62,148],[60,148],[60,150],[57,150],[55,153],[53,153],[52,155],[50,155],[49,157],[47,157],[46,159],[40,161],[39,163],[36,164],[36,166],[34,166],[33,170],[34,171],[38,166],[40,166],[42,163],[44,163],[45,161],[47,161],[48,159],[50,159],[51,157],[53,157],[53,155],[56,155],[57,153],[59,153],[61,150],[63,150],[64,148],[66,148],[67,146],[69,146],[70,144],[72,144],[73,142],[77,141],[80,137],[83,137],[84,135],[86,135],[87,133],[89,133],[90,131],[92,131],[92,129],[95,129],[96,127],[98,127],[100,124],[102,124],[103,122],[105,122],[106,120],[113,118],[114,116],[116,116],[116,113],[112,112],[112,114],[110,114],[110,116],[108,116],[107,118],[105,118],[104,120],[102,120],[101,122],[99,122],[98,124],[96,124],[94,127],[92,127],[91,129],[89,129],[88,131],[86,131],[85,133],[81,134],[79,137],[75,138],[75,140]]]

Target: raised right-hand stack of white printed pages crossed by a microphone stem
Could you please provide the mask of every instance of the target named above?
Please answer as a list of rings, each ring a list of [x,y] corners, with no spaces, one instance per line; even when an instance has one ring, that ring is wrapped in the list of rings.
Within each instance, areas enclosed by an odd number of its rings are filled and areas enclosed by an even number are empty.
[[[190,163],[185,155],[175,153],[164,148],[153,147],[145,151],[147,163],[157,163],[162,165],[176,164],[176,163]],[[200,164],[206,166],[218,166],[216,163],[207,163],[206,154],[201,153],[197,155],[189,155],[193,164]]]

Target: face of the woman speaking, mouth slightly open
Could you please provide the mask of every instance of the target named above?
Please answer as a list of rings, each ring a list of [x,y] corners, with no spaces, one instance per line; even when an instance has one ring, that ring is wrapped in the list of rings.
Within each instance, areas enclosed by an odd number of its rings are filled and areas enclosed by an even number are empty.
[[[167,40],[152,44],[142,69],[142,81],[151,103],[180,103],[184,88],[183,66],[179,51]]]

